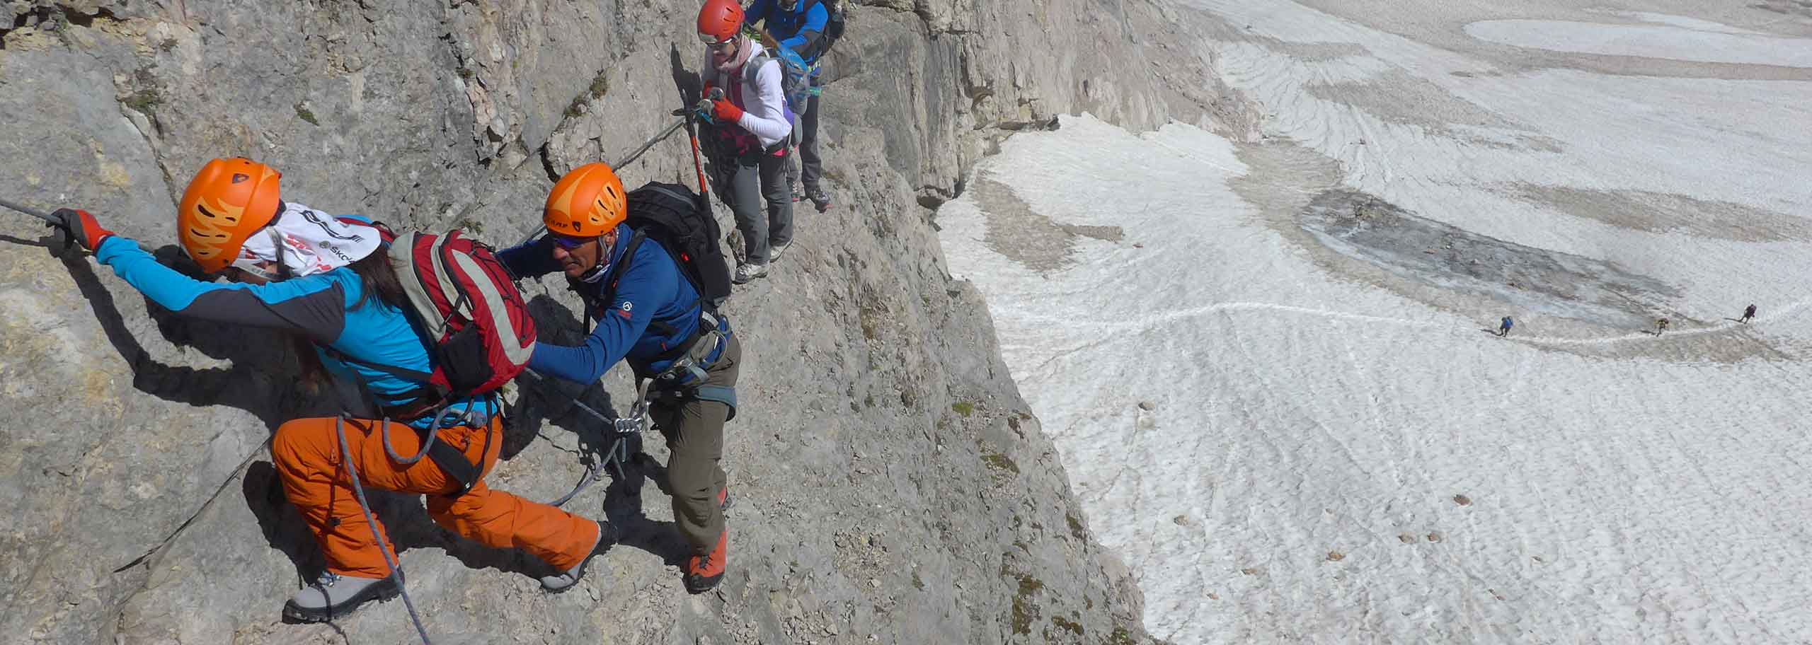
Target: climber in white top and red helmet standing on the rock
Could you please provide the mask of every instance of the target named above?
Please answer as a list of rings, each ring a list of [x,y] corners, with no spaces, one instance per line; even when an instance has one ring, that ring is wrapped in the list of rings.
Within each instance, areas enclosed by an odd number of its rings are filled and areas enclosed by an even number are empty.
[[[792,188],[786,185],[786,143],[792,118],[781,89],[781,62],[743,34],[743,7],[736,0],[707,0],[698,11],[698,38],[705,54],[705,96],[723,96],[707,116],[703,143],[710,156],[718,197],[736,212],[743,234],[743,263],[732,281],[768,274],[792,245]],[[763,203],[766,212],[763,214]]]

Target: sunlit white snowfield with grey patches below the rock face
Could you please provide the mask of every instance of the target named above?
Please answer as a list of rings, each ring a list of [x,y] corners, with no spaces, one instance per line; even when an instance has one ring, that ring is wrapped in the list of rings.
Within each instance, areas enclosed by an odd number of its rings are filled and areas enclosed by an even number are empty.
[[[1261,136],[937,214],[1147,627],[1812,641],[1812,9],[1187,2]]]

